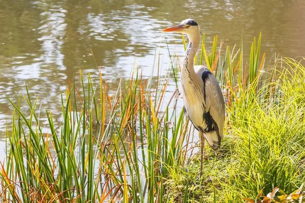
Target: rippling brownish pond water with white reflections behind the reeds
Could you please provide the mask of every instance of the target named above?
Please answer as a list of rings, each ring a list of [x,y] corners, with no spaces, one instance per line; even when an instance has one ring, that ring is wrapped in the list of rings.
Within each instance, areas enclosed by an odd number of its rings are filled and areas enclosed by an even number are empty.
[[[25,82],[39,97],[42,109],[60,112],[60,91],[79,75],[90,72],[113,88],[129,77],[134,63],[150,75],[156,52],[164,67],[170,51],[184,52],[181,35],[161,30],[186,18],[195,19],[205,32],[207,46],[218,35],[225,45],[239,46],[245,55],[254,36],[262,32],[261,52],[266,64],[275,53],[303,56],[305,2],[284,0],[38,0],[0,1],[0,138],[12,117],[14,102],[25,93]],[[160,49],[159,49],[160,47]],[[94,57],[92,55],[94,54]],[[94,59],[95,58],[95,59]],[[155,63],[156,66],[156,63]],[[174,88],[172,88],[174,89]],[[24,103],[24,105],[26,105]],[[24,108],[25,114],[29,110]],[[5,147],[0,141],[0,151]],[[3,153],[0,153],[3,154]],[[3,160],[2,155],[0,157]]]

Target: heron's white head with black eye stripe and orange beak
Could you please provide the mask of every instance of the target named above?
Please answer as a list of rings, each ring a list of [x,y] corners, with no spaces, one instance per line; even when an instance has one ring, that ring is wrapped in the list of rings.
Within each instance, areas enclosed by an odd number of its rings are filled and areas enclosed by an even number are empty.
[[[166,28],[162,31],[173,31],[173,32],[179,32],[179,33],[184,33],[187,35],[192,35],[192,34],[197,34],[200,33],[200,28],[197,22],[193,19],[186,19],[182,21],[179,25],[172,26],[169,28]]]

